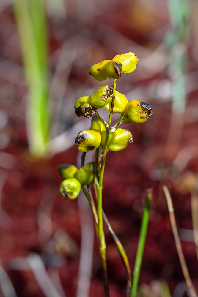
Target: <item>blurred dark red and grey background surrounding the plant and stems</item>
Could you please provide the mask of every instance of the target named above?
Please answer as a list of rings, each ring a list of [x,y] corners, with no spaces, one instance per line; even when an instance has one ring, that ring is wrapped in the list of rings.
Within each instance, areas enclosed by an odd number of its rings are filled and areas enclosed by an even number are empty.
[[[117,91],[154,113],[122,124],[134,142],[107,155],[103,209],[133,272],[153,187],[138,296],[189,296],[166,184],[197,290],[197,1],[24,0],[1,1],[1,296],[104,296],[92,213],[82,194],[62,199],[57,165],[80,166],[75,138],[91,119],[78,118],[74,103],[103,85],[90,67],[127,52],[139,62]],[[105,235],[110,296],[126,296],[124,266]]]

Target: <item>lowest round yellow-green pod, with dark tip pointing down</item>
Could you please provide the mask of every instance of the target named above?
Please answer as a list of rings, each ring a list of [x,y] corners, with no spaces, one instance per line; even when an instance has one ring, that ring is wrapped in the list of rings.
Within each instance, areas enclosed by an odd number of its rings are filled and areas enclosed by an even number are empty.
[[[62,198],[68,197],[69,199],[75,199],[78,197],[81,190],[81,183],[76,178],[67,178],[62,181],[59,192]]]

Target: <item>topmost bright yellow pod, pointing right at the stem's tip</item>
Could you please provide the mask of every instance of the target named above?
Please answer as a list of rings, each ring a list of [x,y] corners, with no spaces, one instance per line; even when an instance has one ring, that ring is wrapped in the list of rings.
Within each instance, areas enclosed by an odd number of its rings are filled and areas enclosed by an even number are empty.
[[[138,57],[134,53],[125,53],[122,55],[116,55],[113,60],[116,60],[122,64],[122,73],[131,73],[136,69]]]

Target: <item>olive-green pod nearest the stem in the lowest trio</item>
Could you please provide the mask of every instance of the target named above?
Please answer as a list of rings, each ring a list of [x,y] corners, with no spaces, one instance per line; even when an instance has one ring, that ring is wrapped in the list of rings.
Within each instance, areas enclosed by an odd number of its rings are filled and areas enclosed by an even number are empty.
[[[78,181],[80,181],[81,184],[94,184],[94,162],[87,163],[78,169],[75,177],[78,179]]]

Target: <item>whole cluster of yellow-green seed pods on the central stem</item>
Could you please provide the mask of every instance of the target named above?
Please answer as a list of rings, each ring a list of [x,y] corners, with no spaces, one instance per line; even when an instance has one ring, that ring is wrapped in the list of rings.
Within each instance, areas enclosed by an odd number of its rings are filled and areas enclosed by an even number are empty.
[[[117,80],[122,73],[133,72],[138,60],[134,53],[116,55],[112,60],[104,60],[93,65],[89,73],[96,80],[102,81],[108,77]],[[111,110],[113,91],[112,86],[105,85],[91,96],[83,96],[76,100],[74,105],[76,115],[92,117],[90,130],[79,132],[75,139],[79,151],[89,152],[98,147],[103,148],[106,131],[109,131],[107,148],[111,151],[125,149],[129,143],[133,142],[133,136],[129,130],[118,128],[119,125],[115,125],[113,129],[109,130],[107,124],[98,115],[98,108],[103,107],[108,111]],[[131,121],[143,123],[153,114],[153,110],[150,105],[139,100],[128,102],[124,94],[115,91],[113,113],[120,113],[125,124],[129,124]],[[63,198],[75,199],[82,186],[93,184],[95,181],[94,162],[89,162],[80,169],[71,164],[62,164],[58,166],[58,170],[63,179],[59,188]]]

